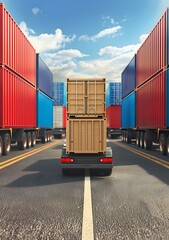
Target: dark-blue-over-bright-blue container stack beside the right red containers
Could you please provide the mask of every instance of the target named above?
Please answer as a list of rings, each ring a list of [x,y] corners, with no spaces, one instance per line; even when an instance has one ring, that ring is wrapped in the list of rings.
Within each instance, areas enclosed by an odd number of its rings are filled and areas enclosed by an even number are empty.
[[[122,128],[136,127],[136,55],[122,73]]]

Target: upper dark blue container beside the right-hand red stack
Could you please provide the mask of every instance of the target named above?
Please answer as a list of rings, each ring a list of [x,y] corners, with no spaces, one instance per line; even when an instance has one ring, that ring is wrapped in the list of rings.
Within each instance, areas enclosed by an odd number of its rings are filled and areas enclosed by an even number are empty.
[[[122,72],[122,98],[126,97],[136,87],[136,55]]]

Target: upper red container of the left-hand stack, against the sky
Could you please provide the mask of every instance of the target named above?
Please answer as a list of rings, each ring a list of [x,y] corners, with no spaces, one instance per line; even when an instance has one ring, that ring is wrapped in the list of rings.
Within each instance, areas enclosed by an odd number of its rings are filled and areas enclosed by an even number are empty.
[[[36,85],[36,52],[14,19],[0,4],[0,65]]]

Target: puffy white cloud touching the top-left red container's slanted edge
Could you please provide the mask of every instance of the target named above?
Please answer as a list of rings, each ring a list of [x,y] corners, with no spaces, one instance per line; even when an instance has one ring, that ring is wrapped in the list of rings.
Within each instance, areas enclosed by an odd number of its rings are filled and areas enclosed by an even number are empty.
[[[36,36],[35,32],[29,29],[25,22],[22,22],[19,26],[37,52],[58,50],[63,48],[66,43],[72,42],[75,39],[75,35],[66,36],[59,28],[57,28],[54,33],[42,33]],[[32,35],[32,33],[34,33],[34,35]]]

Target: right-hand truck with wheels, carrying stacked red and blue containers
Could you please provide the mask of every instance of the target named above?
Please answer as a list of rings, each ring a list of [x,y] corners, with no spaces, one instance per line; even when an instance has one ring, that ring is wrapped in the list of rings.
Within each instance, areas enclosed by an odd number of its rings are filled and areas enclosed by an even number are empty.
[[[122,73],[122,138],[169,155],[169,9]]]

